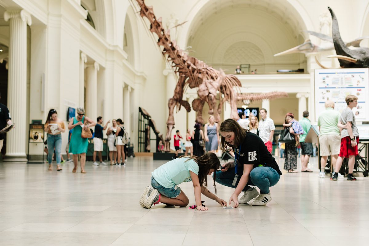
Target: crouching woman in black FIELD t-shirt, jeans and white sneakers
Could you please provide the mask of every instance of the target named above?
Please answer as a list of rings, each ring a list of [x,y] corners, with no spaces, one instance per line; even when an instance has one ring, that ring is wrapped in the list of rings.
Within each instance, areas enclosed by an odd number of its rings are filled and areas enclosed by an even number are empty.
[[[229,204],[247,203],[252,198],[252,205],[263,206],[272,200],[269,187],[278,183],[282,175],[267,146],[258,135],[240,127],[234,119],[226,119],[220,125],[221,148],[234,150],[235,159],[222,165],[223,169],[215,174],[215,182],[235,188]],[[260,188],[260,194],[256,188]],[[238,195],[244,192],[238,200]]]

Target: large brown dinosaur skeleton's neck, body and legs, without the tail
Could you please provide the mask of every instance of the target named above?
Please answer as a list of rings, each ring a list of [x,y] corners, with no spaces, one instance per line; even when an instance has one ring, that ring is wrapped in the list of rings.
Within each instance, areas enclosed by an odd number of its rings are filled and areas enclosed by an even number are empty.
[[[137,0],[137,3],[141,10],[139,15],[146,17],[150,22],[150,31],[158,35],[158,46],[161,48],[162,54],[171,64],[174,72],[178,74],[179,80],[175,87],[174,96],[168,101],[169,117],[166,122],[167,132],[165,137],[165,151],[169,151],[169,141],[171,139],[171,132],[174,127],[173,111],[177,107],[183,106],[187,112],[191,111],[190,104],[184,101],[183,93],[184,88],[188,85],[190,88],[198,87],[197,94],[199,98],[193,100],[192,108],[197,112],[196,122],[203,124],[204,120],[201,117],[204,103],[209,105],[209,114],[213,114],[215,121],[220,121],[220,115],[222,104],[225,101],[231,104],[231,116],[230,118],[239,119],[237,114],[237,94],[233,87],[240,87],[241,82],[234,75],[225,75],[223,70],[216,70],[213,67],[208,66],[201,60],[198,60],[192,56],[187,55],[183,50],[176,45],[175,41],[170,40],[170,30],[165,31],[162,26],[161,18],[157,19],[152,6],[148,7],[144,3],[144,0]],[[217,107],[217,91],[224,95],[224,98],[220,99],[220,103]]]

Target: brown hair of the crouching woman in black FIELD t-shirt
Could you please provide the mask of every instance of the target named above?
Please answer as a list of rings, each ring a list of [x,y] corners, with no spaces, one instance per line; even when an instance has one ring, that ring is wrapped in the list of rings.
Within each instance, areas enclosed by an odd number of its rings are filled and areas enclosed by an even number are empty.
[[[220,148],[224,152],[227,150],[227,146],[237,148],[242,143],[242,141],[244,141],[246,133],[249,132],[249,130],[242,128],[234,119],[226,119],[225,121],[223,121],[220,125],[219,131],[234,132],[234,145],[231,145],[230,143],[225,141],[225,138],[222,135],[220,136]]]

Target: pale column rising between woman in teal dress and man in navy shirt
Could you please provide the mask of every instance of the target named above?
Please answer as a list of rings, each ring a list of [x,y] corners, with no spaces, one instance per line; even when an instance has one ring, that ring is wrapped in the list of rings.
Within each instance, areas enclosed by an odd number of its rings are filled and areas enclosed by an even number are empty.
[[[87,65],[87,85],[86,85],[86,116],[96,121],[97,118],[97,71],[99,63]]]

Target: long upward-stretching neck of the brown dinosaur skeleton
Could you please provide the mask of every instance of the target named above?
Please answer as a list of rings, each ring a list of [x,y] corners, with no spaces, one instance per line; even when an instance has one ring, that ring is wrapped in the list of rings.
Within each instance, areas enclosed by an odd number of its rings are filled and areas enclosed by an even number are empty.
[[[187,54],[179,49],[179,47],[170,40],[169,33],[165,32],[165,29],[162,26],[161,18],[156,18],[154,11],[152,10],[152,6],[146,6],[144,0],[137,0],[137,3],[141,8],[141,17],[146,17],[151,24],[150,31],[158,35],[158,45],[159,47],[164,47],[162,51],[163,55],[168,55],[168,61],[172,62],[173,67],[177,67],[175,71],[182,73],[187,77],[193,77],[193,71],[196,69],[196,67],[189,63]]]

